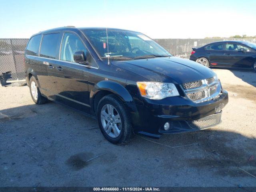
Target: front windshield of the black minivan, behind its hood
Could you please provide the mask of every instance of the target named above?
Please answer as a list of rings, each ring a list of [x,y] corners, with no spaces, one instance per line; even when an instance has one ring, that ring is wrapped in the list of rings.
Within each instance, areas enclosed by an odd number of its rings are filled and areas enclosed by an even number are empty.
[[[152,39],[139,32],[108,30],[108,47],[105,29],[83,30],[102,58],[151,58],[172,56]]]

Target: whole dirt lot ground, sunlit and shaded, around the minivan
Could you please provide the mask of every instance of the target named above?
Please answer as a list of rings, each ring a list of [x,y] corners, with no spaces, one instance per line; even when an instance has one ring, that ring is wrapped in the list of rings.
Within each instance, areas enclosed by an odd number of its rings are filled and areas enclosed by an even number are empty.
[[[35,105],[27,86],[0,87],[0,186],[256,186],[256,73],[214,71],[230,98],[222,124],[125,146],[92,118]]]

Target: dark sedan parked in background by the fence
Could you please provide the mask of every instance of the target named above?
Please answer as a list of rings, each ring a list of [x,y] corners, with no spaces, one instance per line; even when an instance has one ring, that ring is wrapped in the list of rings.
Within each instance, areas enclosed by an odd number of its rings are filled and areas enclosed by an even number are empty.
[[[192,48],[190,60],[207,67],[252,68],[256,72],[256,44],[220,41]]]

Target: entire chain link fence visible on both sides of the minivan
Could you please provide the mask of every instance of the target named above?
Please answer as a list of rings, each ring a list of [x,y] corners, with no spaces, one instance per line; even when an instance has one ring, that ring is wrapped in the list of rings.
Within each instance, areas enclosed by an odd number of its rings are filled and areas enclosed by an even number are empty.
[[[256,39],[154,39],[174,56],[189,58],[192,47],[224,40],[245,40],[256,42]],[[7,81],[25,79],[24,50],[28,39],[0,39],[0,78]]]

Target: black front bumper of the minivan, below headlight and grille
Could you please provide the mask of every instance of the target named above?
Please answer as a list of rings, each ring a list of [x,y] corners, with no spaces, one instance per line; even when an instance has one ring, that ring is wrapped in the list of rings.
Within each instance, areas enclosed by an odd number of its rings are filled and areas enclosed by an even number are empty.
[[[168,102],[170,104],[164,104]],[[228,103],[228,92],[223,90],[219,98],[202,103],[183,97],[161,102],[147,100],[144,103],[144,106],[137,105],[139,115],[134,123],[134,132],[159,138],[161,134],[191,132],[219,124],[222,108]],[[170,123],[167,131],[164,130],[166,122]]]

